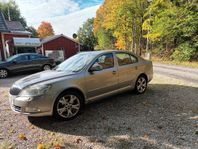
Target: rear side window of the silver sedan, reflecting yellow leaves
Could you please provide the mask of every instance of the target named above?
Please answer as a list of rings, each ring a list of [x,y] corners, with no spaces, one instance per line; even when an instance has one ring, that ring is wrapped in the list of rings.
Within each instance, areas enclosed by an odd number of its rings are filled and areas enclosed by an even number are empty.
[[[116,53],[119,66],[129,65],[137,62],[137,58],[128,53]]]

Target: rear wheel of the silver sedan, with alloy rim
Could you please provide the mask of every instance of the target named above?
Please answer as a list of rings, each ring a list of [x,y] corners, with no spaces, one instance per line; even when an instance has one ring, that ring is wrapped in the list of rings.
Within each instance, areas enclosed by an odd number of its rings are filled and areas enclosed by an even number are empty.
[[[137,94],[143,94],[147,89],[147,78],[145,75],[140,75],[135,83],[135,92]]]

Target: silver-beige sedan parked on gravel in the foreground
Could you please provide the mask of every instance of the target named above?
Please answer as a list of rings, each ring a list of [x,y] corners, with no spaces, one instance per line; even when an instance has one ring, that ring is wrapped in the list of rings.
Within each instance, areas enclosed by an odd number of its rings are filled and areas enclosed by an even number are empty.
[[[152,77],[152,62],[133,53],[80,52],[54,70],[16,81],[10,88],[10,105],[25,115],[68,120],[88,102],[132,89],[144,93]]]

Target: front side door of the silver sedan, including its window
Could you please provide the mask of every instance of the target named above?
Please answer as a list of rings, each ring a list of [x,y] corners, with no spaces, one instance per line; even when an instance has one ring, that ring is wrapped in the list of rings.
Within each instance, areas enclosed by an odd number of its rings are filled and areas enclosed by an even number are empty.
[[[105,93],[118,89],[118,73],[113,53],[107,53],[99,56],[92,66],[95,64],[100,65],[102,69],[87,72],[86,87],[88,99],[104,95]]]

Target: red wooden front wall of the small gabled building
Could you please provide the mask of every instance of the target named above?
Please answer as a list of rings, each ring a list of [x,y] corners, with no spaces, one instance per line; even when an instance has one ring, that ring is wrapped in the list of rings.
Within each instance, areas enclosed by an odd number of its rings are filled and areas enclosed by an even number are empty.
[[[65,37],[59,37],[43,44],[43,50],[64,50],[65,59],[78,53],[78,43],[67,39]]]

